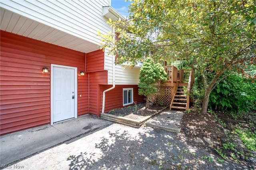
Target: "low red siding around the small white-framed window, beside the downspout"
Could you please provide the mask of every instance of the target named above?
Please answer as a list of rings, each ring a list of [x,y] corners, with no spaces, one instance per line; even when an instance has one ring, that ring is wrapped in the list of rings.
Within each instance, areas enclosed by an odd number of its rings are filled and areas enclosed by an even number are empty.
[[[101,85],[100,93],[111,86]],[[108,92],[106,92],[105,97],[105,113],[117,108],[122,108],[123,106],[123,88],[133,88],[133,100],[134,102],[141,103],[144,102],[145,96],[138,95],[138,85],[116,85],[116,87]],[[102,109],[102,95],[100,95],[100,108]],[[101,111],[100,109],[100,111]]]

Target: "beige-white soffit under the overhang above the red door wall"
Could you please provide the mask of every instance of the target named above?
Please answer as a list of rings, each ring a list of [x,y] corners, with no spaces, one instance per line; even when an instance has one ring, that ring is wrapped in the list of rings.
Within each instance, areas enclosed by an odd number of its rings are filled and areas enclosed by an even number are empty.
[[[1,30],[22,35],[46,43],[51,43],[83,53],[89,53],[100,49],[97,44],[64,33],[37,21],[20,16],[3,8],[1,12]]]

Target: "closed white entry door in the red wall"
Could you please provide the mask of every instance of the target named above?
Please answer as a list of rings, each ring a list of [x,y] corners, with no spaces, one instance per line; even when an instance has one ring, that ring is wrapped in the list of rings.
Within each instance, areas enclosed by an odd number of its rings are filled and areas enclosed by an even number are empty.
[[[75,70],[52,66],[52,123],[76,117]]]

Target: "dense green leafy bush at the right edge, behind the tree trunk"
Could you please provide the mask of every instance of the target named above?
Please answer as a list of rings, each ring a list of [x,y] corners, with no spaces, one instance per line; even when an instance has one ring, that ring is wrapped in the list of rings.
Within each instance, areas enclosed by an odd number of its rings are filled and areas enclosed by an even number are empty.
[[[238,74],[228,76],[212,90],[209,107],[232,112],[256,110],[256,83]]]

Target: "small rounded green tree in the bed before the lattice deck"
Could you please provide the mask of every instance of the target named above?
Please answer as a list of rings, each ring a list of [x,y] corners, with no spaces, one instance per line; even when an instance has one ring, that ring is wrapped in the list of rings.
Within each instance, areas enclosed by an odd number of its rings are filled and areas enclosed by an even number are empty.
[[[155,63],[150,57],[146,58],[140,68],[140,82],[138,83],[139,95],[144,95],[146,99],[146,108],[149,98],[158,90],[157,83],[167,81],[167,73],[159,63]]]

